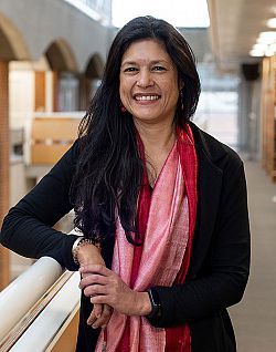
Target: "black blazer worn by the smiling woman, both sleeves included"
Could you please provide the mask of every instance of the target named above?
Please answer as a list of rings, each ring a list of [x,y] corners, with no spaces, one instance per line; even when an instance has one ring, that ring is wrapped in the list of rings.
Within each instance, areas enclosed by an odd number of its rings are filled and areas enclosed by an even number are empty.
[[[250,227],[243,163],[235,152],[191,123],[198,155],[198,213],[191,265],[184,284],[158,287],[162,317],[155,327],[189,322],[192,352],[234,352],[226,308],[242,299],[250,267]],[[3,221],[1,244],[18,253],[50,256],[76,270],[76,236],[51,228],[73,205],[68,194],[78,143],[13,207]],[[103,248],[108,267],[114,242]],[[98,330],[86,324],[91,303],[82,297],[77,351],[93,351]]]

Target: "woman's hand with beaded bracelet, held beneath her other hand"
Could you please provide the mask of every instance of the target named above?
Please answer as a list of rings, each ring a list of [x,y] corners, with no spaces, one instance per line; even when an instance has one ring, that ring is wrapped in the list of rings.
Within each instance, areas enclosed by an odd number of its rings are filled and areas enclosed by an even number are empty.
[[[105,261],[100,255],[99,249],[92,245],[86,244],[78,249],[77,260],[79,262],[79,267],[85,265],[103,265],[105,266]],[[85,278],[87,275],[83,273],[82,278]],[[113,309],[107,304],[94,304],[93,310],[87,319],[87,324],[92,325],[92,328],[105,328],[112,317]]]

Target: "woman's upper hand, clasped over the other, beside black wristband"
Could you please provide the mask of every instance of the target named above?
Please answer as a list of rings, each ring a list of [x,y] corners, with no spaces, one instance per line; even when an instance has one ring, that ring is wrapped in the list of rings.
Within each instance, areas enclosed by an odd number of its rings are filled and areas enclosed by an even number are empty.
[[[94,304],[108,304],[127,315],[147,315],[151,303],[147,292],[131,290],[115,272],[103,265],[87,265],[79,269],[79,287]]]

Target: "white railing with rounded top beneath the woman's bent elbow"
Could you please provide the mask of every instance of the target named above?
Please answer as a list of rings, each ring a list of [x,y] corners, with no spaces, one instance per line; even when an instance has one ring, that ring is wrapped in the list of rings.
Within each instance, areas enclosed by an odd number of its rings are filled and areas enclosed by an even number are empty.
[[[43,257],[0,292],[0,352],[45,351],[79,304],[79,275]]]

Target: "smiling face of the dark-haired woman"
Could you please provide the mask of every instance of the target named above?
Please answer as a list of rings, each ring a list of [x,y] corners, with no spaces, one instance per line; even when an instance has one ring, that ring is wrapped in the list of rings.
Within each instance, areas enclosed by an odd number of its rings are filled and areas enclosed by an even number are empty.
[[[121,59],[119,94],[135,122],[172,122],[179,97],[177,68],[153,40],[134,42]]]

